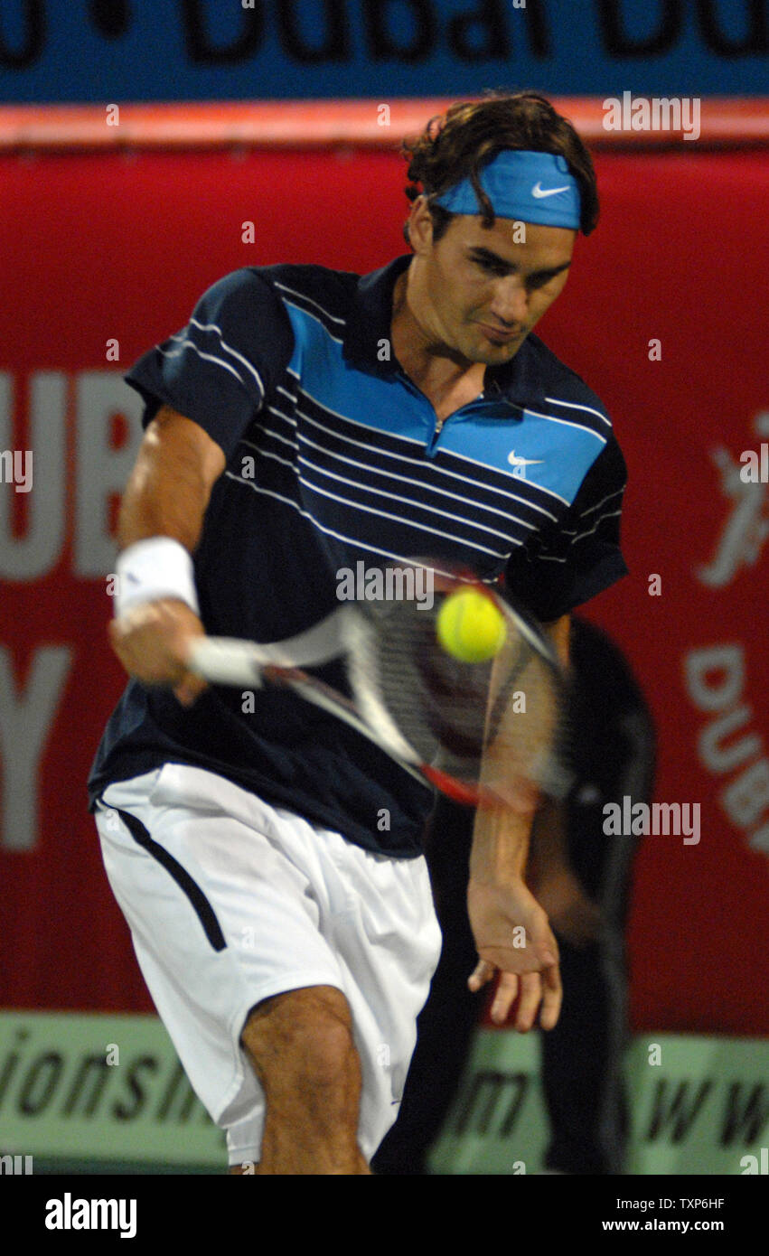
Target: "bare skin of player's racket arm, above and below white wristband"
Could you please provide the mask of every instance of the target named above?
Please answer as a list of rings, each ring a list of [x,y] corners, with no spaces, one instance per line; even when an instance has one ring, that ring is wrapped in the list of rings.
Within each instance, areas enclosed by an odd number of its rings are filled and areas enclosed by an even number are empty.
[[[167,536],[191,554],[225,463],[224,451],[202,427],[163,406],[147,427],[123,495],[121,550]],[[146,602],[109,624],[112,647],[128,674],[146,685],[172,685],[186,706],[205,688],[186,668],[190,643],[202,634],[200,618],[178,598]]]

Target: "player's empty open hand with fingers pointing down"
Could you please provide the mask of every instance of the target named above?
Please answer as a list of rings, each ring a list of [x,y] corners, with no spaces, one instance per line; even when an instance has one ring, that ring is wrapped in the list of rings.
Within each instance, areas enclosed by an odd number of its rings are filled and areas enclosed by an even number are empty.
[[[471,877],[467,911],[479,955],[470,990],[480,990],[500,973],[491,1020],[504,1025],[518,999],[519,1032],[532,1029],[540,1005],[542,1027],[553,1029],[562,1001],[558,943],[532,892],[520,879],[493,884]]]

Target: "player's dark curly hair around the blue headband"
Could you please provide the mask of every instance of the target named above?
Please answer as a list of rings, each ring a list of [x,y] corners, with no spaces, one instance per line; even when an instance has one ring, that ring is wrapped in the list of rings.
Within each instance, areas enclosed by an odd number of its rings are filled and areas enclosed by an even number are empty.
[[[434,197],[466,177],[483,206],[484,226],[494,226],[494,208],[477,176],[505,148],[565,158],[579,186],[579,229],[589,235],[598,222],[598,188],[592,157],[574,127],[538,92],[496,90],[485,92],[480,100],[450,106],[446,113],[430,119],[421,136],[401,146],[408,162],[406,196],[410,201],[427,197],[432,239],[437,242],[454,217],[442,205],[435,205]],[[410,244],[407,222],[403,236]]]

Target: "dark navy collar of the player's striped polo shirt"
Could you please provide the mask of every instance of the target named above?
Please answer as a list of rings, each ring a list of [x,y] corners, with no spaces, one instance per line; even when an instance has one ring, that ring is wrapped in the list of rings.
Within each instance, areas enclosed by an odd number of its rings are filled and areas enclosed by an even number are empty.
[[[395,378],[397,363],[395,359],[381,360],[382,342],[390,343],[392,323],[392,293],[398,275],[411,263],[407,252],[387,266],[361,275],[353,294],[352,308],[347,319],[342,352],[351,365],[386,378]],[[545,382],[538,371],[537,353],[524,340],[515,357],[500,367],[488,367],[485,374],[484,399],[506,403],[504,408],[534,407],[542,404]]]

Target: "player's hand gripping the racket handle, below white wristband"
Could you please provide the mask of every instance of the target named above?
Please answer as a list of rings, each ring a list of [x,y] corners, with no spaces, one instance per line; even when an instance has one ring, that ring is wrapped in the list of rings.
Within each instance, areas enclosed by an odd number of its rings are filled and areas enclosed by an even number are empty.
[[[190,647],[205,629],[177,598],[136,607],[109,624],[109,641],[129,676],[145,685],[168,685],[182,706],[192,706],[206,682],[187,669]]]

